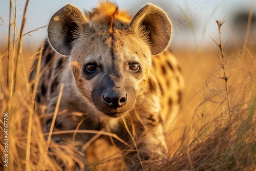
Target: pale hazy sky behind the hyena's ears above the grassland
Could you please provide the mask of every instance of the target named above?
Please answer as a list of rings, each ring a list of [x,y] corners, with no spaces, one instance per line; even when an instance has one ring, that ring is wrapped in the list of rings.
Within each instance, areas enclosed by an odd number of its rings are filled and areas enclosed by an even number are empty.
[[[240,13],[249,13],[250,4],[253,4],[253,14],[256,13],[256,1],[251,0],[116,0],[119,9],[124,9],[135,15],[136,12],[147,3],[152,3],[162,8],[172,21],[173,33],[171,47],[198,47],[212,45],[209,36],[216,37],[218,27],[215,19],[222,20],[225,17],[226,24],[223,26],[223,32],[227,40],[232,41],[233,35],[239,38],[237,26],[233,22],[233,17]],[[15,1],[13,1],[13,4]],[[17,1],[17,28],[20,29],[26,0]],[[97,0],[91,1],[50,1],[50,0],[30,0],[26,27],[24,33],[36,28],[46,26],[51,16],[61,7],[72,4],[81,10],[89,10],[98,4]],[[0,3],[0,44],[7,46],[8,25],[9,25],[9,7],[10,1],[1,0]],[[13,8],[14,9],[14,8]],[[190,19],[191,25],[187,23],[186,17]],[[245,21],[244,23],[246,23]],[[251,28],[252,32],[255,29]],[[255,34],[255,32],[253,32]],[[24,37],[27,46],[39,47],[41,42],[47,37],[47,28],[32,32],[31,36]]]

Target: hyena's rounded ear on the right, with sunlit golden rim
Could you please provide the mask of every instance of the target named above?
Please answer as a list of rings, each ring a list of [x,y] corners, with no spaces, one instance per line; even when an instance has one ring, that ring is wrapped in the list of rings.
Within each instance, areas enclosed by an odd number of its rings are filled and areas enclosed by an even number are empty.
[[[169,44],[172,25],[165,12],[152,4],[140,9],[130,26],[149,41],[152,55],[161,53]]]

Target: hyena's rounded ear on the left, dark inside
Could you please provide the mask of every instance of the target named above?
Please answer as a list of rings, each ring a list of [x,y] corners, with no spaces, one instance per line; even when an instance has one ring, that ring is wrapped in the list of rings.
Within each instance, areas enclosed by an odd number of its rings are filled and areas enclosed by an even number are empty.
[[[48,38],[52,47],[61,55],[70,55],[72,42],[88,23],[83,13],[72,5],[66,5],[51,18]]]

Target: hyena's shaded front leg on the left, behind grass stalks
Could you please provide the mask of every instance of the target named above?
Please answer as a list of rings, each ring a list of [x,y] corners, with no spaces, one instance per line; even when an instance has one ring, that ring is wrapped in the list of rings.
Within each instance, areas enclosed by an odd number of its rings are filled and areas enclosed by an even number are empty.
[[[46,114],[44,132],[49,133],[53,120],[53,113]],[[90,124],[89,124],[90,123]],[[88,170],[85,152],[82,146],[91,134],[76,134],[75,130],[92,130],[92,121],[86,115],[77,112],[60,110],[57,114],[49,154],[63,170]],[[65,133],[66,131],[66,133]],[[57,133],[59,132],[59,133]],[[65,134],[62,134],[64,132]],[[56,134],[55,134],[56,133]],[[48,138],[48,136],[46,136]],[[52,153],[51,153],[52,152]]]

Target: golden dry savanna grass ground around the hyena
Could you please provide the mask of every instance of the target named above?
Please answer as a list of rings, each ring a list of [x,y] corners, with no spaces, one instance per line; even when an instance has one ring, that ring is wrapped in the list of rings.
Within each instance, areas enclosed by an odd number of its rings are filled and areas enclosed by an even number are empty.
[[[219,33],[217,24],[216,33]],[[183,107],[166,135],[170,157],[150,161],[144,170],[256,169],[256,39],[247,29],[245,41],[218,47],[219,36],[212,35],[217,36],[206,49],[173,49],[185,78]],[[0,170],[59,170],[52,156],[69,160],[72,151],[45,139],[41,118],[34,112],[36,92],[31,92],[28,80],[40,51],[37,52],[38,47],[22,47],[22,40],[13,50],[11,41],[9,51],[7,46],[0,50]],[[8,168],[4,167],[3,159],[5,113],[8,113]],[[49,146],[55,150],[49,152]],[[64,148],[69,156],[62,152]],[[88,153],[93,156],[88,158],[92,170],[122,167],[120,152],[109,148],[103,140],[89,146]],[[104,153],[111,156],[104,159]],[[109,161],[111,164],[107,164]]]

